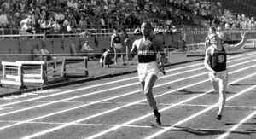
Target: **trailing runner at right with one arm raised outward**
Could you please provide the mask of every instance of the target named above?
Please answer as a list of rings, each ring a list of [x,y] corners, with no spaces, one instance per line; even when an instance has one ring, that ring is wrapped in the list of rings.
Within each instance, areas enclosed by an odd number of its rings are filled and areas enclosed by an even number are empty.
[[[216,119],[221,120],[226,101],[225,90],[228,84],[227,52],[241,49],[247,41],[247,37],[246,32],[242,32],[241,42],[235,45],[222,44],[216,33],[212,33],[208,37],[210,46],[206,50],[204,66],[208,71],[213,89],[219,93]]]

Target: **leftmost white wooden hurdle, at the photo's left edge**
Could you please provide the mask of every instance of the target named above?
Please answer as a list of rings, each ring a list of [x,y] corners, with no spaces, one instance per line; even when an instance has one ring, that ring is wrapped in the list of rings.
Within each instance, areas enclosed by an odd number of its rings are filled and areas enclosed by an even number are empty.
[[[17,85],[18,89],[24,88],[21,63],[2,61],[3,77],[2,84]]]

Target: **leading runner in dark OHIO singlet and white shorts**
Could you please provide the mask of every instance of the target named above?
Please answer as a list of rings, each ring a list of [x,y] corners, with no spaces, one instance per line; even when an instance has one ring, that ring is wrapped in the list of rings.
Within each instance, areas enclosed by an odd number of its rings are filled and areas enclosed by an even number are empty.
[[[160,65],[166,60],[162,42],[159,39],[153,38],[153,27],[149,22],[143,22],[141,26],[143,38],[137,39],[132,43],[131,50],[126,46],[126,55],[131,61],[134,55],[138,55],[138,78],[142,84],[143,92],[147,97],[150,107],[153,109],[156,123],[161,125],[160,113],[156,106],[156,101],[152,89],[160,72]],[[129,39],[129,38],[126,38]],[[128,40],[125,40],[128,42]],[[157,53],[160,53],[160,61],[158,63]]]

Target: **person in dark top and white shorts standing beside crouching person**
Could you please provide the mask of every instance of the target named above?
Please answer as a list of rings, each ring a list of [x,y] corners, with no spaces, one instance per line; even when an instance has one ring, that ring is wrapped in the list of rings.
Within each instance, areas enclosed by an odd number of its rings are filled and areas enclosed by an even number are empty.
[[[113,34],[111,36],[110,47],[113,48],[114,51],[114,64],[118,65],[118,55],[121,55],[121,59],[123,60],[123,65],[125,63],[125,54],[124,54],[124,47],[122,44],[121,36],[119,34],[119,30],[117,28],[113,28]]]

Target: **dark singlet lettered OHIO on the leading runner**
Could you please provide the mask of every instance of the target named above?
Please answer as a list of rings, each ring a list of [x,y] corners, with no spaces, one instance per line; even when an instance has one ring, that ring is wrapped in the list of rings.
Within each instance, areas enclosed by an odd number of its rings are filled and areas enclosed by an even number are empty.
[[[156,52],[154,50],[153,41],[146,45],[143,43],[142,38],[137,49],[137,55],[139,63],[148,63],[151,61],[156,61]]]

